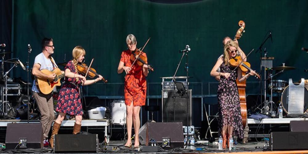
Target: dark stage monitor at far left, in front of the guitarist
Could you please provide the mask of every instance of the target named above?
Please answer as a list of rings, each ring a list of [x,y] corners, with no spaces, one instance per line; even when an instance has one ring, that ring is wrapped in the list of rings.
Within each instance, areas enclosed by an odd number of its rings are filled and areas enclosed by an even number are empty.
[[[44,144],[42,124],[7,124],[5,137],[6,149],[14,149],[20,140],[23,140],[25,144],[20,144],[16,149],[43,148]]]

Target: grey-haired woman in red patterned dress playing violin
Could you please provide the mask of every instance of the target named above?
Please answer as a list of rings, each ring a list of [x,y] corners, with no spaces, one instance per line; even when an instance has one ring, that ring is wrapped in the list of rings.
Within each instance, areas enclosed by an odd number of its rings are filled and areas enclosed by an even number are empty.
[[[118,66],[118,73],[125,71],[126,76],[124,80],[124,98],[126,105],[126,126],[128,133],[128,140],[125,147],[132,147],[132,124],[135,128],[135,143],[134,148],[139,147],[139,128],[140,128],[140,107],[145,105],[147,81],[145,77],[148,76],[148,65],[139,66],[136,62],[132,66],[131,60],[132,51],[136,50],[136,37],[129,34],[126,37],[126,44],[128,50],[121,54],[120,63]],[[145,53],[143,56],[147,56]]]

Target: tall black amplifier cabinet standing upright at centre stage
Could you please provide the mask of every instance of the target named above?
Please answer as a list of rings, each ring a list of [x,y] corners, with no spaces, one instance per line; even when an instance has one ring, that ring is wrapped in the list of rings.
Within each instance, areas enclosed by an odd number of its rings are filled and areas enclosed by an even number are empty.
[[[192,125],[192,90],[188,89],[188,125],[186,94],[177,90],[162,90],[162,122],[182,122],[184,126]]]

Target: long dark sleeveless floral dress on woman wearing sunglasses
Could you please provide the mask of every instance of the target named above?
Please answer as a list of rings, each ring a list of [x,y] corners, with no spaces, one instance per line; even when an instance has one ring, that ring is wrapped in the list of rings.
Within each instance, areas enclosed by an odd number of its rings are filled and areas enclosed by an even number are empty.
[[[231,73],[233,67],[225,65],[220,66],[222,73]],[[233,127],[233,136],[244,137],[244,130],[241,117],[240,97],[237,89],[237,70],[233,71],[228,79],[221,77],[217,90],[218,97],[218,132],[221,132],[223,126]]]

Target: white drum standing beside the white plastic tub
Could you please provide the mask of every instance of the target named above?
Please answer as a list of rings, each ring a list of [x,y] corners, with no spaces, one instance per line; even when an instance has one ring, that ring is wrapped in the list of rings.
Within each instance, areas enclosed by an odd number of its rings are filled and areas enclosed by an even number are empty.
[[[111,124],[126,124],[126,105],[124,100],[114,100],[111,103]]]

